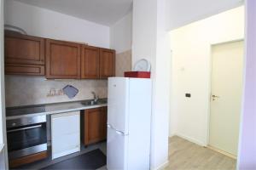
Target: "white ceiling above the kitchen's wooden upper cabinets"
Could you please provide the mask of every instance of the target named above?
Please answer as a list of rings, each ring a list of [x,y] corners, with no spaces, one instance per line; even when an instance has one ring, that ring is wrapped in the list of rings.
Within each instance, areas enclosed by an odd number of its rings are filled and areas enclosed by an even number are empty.
[[[16,0],[62,14],[112,26],[131,11],[132,0]]]

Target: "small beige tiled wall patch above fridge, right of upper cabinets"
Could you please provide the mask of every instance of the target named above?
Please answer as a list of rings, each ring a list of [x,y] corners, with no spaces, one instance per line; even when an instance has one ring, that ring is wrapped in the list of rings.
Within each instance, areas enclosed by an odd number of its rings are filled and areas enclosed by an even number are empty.
[[[116,54],[115,70],[117,77],[124,77],[125,71],[131,71],[131,50]]]

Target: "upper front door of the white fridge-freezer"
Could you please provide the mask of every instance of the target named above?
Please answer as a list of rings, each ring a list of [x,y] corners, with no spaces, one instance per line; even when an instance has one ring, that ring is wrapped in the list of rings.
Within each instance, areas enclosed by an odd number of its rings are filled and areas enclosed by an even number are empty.
[[[108,78],[108,125],[128,134],[129,78]]]

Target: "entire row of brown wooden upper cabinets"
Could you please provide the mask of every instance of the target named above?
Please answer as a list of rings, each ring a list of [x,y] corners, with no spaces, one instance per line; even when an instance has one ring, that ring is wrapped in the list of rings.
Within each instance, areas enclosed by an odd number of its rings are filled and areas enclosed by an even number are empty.
[[[115,51],[75,42],[6,32],[5,74],[49,79],[107,79],[115,76]]]

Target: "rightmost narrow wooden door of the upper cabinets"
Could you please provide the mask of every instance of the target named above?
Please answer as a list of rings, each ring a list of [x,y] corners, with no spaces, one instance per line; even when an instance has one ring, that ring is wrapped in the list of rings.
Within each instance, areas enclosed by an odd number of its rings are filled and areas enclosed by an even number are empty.
[[[115,51],[101,48],[100,51],[100,77],[106,79],[115,75]]]

